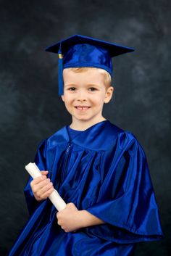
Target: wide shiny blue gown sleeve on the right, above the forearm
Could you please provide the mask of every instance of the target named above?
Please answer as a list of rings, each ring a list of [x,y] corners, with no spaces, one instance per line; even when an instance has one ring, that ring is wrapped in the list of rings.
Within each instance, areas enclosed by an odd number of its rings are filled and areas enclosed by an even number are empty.
[[[87,232],[120,244],[161,239],[146,156],[132,133],[120,134],[111,162],[96,205],[86,209],[105,224],[86,228]]]

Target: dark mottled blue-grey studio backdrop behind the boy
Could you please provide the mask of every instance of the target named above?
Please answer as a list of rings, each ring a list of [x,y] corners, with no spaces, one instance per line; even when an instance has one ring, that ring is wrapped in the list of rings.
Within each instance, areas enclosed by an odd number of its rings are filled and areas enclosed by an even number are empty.
[[[0,255],[28,220],[25,165],[42,139],[70,124],[57,96],[57,55],[43,51],[81,34],[135,52],[115,57],[112,102],[104,117],[131,131],[149,162],[164,231],[136,256],[170,250],[170,1],[0,0]]]

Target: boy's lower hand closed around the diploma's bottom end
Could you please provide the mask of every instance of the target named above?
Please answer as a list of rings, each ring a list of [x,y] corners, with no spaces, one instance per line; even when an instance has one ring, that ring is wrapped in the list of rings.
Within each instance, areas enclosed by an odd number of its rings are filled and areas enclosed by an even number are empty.
[[[76,231],[81,228],[82,220],[80,220],[78,208],[71,202],[67,204],[64,210],[57,212],[58,224],[65,232]]]

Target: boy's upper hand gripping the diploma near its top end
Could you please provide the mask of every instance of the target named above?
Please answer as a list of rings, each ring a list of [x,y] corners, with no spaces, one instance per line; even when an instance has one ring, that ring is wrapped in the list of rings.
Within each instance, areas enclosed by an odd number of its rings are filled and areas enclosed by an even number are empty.
[[[33,195],[37,201],[48,198],[54,191],[53,183],[51,183],[50,179],[46,177],[48,170],[43,170],[41,173],[41,177],[34,178],[33,181],[30,182]]]

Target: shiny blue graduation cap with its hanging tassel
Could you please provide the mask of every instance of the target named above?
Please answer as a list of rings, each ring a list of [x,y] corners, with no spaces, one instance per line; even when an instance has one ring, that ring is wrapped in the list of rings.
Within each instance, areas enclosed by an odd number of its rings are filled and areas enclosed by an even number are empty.
[[[133,48],[112,44],[88,36],[74,35],[45,49],[59,56],[59,96],[64,94],[63,70],[67,67],[99,67],[112,75],[112,57],[134,51]]]

